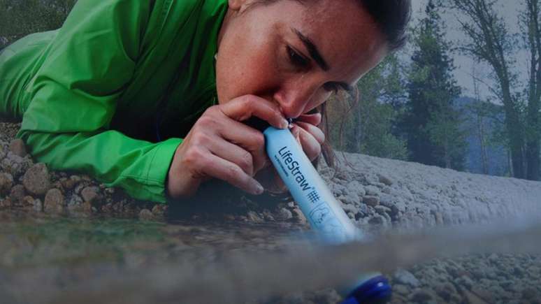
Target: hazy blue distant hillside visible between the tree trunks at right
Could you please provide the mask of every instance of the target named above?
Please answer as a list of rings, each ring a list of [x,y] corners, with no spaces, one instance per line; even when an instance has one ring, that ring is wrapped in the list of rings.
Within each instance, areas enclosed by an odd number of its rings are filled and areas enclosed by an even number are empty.
[[[466,138],[468,142],[468,152],[466,155],[465,168],[471,173],[483,173],[482,165],[482,153],[481,143],[479,140],[479,132],[477,129],[477,115],[472,110],[473,107],[479,106],[479,101],[470,97],[461,97],[456,99],[455,106],[463,113],[463,128],[467,130],[468,136]],[[496,110],[499,106],[493,106]],[[503,114],[496,116],[498,119],[503,120]],[[484,117],[482,120],[484,126],[484,133],[488,138],[491,138],[495,127],[495,119]],[[509,166],[507,162],[507,151],[503,145],[488,146],[486,147],[486,154],[488,159],[489,175],[507,175]]]

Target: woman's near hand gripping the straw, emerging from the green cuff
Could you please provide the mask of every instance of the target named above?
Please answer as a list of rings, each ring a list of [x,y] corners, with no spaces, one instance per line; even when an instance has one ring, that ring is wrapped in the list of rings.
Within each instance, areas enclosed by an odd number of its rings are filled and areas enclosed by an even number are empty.
[[[242,123],[252,116],[276,128],[287,128],[280,108],[258,96],[240,96],[208,108],[175,152],[166,182],[168,195],[190,196],[209,178],[261,194],[264,188],[253,177],[268,166],[268,158],[263,133]],[[310,151],[317,149],[305,133],[298,138],[310,141]]]

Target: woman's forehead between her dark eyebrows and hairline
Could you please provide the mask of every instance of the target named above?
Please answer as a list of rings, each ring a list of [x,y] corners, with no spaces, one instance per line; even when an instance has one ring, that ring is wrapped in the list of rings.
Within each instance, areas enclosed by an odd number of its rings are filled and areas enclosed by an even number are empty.
[[[305,2],[287,11],[289,24],[284,24],[284,28],[308,38],[331,73],[338,69],[340,74],[356,80],[384,57],[387,50],[384,36],[357,1]]]

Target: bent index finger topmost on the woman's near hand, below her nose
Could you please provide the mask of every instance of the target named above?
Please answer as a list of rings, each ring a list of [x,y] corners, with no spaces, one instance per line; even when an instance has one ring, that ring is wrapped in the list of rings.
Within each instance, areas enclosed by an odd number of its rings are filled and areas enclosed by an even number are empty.
[[[219,109],[224,115],[237,121],[244,121],[255,116],[278,129],[286,129],[289,125],[277,104],[259,96],[240,96],[220,105]]]

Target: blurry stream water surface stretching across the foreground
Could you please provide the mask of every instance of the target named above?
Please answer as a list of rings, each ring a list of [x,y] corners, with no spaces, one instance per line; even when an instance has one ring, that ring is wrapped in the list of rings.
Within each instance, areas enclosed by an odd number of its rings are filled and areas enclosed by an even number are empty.
[[[243,303],[336,287],[359,273],[393,273],[436,257],[541,255],[537,219],[386,233],[338,247],[315,245],[290,224],[164,224],[11,212],[1,212],[0,219],[0,296],[9,303]]]

